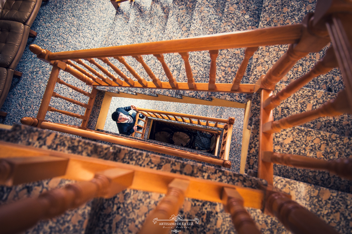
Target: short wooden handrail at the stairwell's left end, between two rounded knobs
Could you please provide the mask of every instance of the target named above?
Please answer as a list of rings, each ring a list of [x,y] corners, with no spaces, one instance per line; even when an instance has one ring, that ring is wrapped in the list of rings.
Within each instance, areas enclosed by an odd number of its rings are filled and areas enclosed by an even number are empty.
[[[40,106],[37,114],[38,119],[45,119],[45,115],[46,115],[46,112],[48,111],[48,107],[50,104],[52,92],[54,92],[56,81],[59,77],[59,72],[60,72],[59,67],[57,66],[52,67],[48,84],[46,85],[46,88],[44,91],[42,102],[40,102]]]

